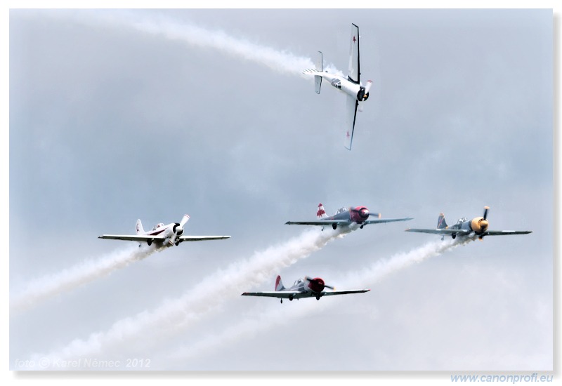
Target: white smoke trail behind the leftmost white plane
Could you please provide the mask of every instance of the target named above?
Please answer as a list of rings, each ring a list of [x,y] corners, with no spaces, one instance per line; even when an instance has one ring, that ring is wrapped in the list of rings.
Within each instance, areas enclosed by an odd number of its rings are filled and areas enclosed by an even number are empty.
[[[138,248],[138,246],[134,246],[98,260],[86,260],[57,274],[35,279],[27,284],[25,290],[10,300],[10,311],[27,310],[38,302],[105,277],[116,269],[126,267],[133,261],[146,258],[155,251],[157,249],[153,247],[143,246]]]

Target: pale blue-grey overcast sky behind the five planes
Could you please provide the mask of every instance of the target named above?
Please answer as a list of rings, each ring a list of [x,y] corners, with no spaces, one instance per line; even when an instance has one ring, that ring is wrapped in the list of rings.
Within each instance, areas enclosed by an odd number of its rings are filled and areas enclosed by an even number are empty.
[[[317,95],[299,66],[320,50],[346,73],[352,22],[373,87],[349,152],[345,95]],[[85,261],[137,253],[97,239],[137,218],[188,213],[188,234],[232,238],[11,310],[10,368],[551,370],[552,34],[552,12],[528,9],[11,11],[11,305]],[[313,220],[319,202],[414,220],[292,251],[320,229],[285,222]],[[483,206],[490,229],[533,233],[415,262],[440,239],[405,227]],[[371,291],[240,296],[276,274]]]

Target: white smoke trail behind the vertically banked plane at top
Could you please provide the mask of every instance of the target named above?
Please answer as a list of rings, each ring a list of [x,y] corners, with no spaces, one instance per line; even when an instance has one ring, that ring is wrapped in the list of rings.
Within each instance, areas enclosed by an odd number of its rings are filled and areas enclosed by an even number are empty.
[[[256,62],[281,74],[299,75],[313,80],[313,76],[302,74],[303,69],[314,68],[311,58],[294,55],[287,51],[279,51],[268,46],[253,43],[248,39],[231,36],[220,30],[205,29],[185,21],[175,20],[166,15],[140,11],[58,11],[54,17],[63,15],[83,24],[107,25],[136,29],[145,34],[162,36],[171,41],[182,41],[185,44],[202,49],[214,49],[233,55],[243,60]],[[332,74],[343,75],[334,65],[325,69]]]

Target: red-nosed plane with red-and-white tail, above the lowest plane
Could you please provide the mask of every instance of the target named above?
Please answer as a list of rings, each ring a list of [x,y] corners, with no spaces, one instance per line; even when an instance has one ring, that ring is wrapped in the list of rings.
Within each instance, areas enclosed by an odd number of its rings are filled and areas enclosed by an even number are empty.
[[[380,224],[381,222],[396,222],[412,220],[412,217],[403,218],[381,218],[381,213],[372,213],[366,206],[349,206],[342,207],[332,216],[326,215],[322,203],[318,204],[316,212],[318,220],[315,221],[287,221],[285,225],[319,225],[321,227],[332,225],[333,229],[337,227],[359,227],[362,229],[368,224]],[[370,219],[370,217],[376,217]],[[323,228],[322,228],[323,229]]]

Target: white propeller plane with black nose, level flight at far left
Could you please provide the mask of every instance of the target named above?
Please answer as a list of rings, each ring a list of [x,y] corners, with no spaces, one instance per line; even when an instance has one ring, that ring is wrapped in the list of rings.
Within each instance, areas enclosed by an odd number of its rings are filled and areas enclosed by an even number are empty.
[[[180,222],[172,222],[171,224],[164,225],[159,222],[152,230],[145,232],[141,220],[136,220],[136,234],[103,234],[98,239],[111,239],[111,240],[126,240],[145,242],[149,246],[152,243],[158,248],[166,246],[179,245],[183,241],[204,241],[204,240],[222,240],[229,239],[230,236],[184,236],[183,226],[188,222],[189,216],[183,215]],[[139,244],[141,246],[141,244]]]

